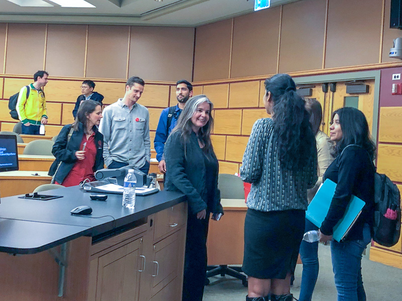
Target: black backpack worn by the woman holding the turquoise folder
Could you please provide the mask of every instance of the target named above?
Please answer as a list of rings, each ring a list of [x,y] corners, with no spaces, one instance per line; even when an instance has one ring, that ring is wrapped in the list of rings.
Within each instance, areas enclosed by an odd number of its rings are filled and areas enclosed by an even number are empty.
[[[350,144],[346,147],[352,145],[361,147],[357,144]],[[342,153],[346,147],[342,150]],[[400,192],[398,187],[386,175],[376,172],[377,168],[374,164],[373,168],[375,171],[373,240],[382,246],[391,247],[398,242],[400,236]],[[396,212],[396,219],[391,220],[384,216],[388,209]]]

